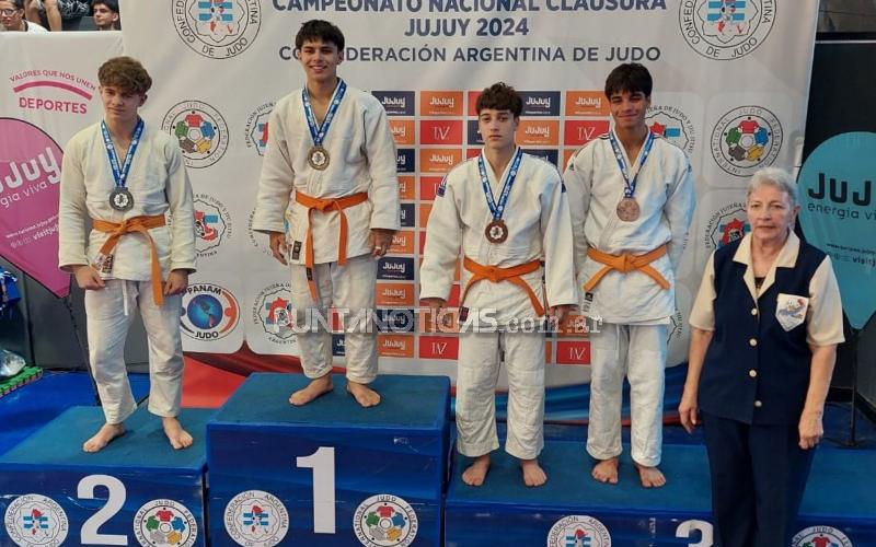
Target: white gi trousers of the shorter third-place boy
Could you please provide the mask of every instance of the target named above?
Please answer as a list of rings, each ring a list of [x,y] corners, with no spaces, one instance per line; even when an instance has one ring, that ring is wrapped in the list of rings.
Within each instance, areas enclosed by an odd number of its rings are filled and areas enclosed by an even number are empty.
[[[544,447],[544,334],[461,333],[457,375],[457,450],[477,457],[499,447],[496,381],[505,354],[508,437],[505,451],[520,459]]]

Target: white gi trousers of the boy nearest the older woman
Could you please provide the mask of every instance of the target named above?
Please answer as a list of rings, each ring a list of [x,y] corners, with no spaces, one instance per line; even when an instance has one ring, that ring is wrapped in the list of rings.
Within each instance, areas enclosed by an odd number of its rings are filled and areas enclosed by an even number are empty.
[[[587,452],[619,456],[623,379],[630,380],[631,455],[646,467],[660,463],[667,325],[603,323],[590,337],[590,418]]]

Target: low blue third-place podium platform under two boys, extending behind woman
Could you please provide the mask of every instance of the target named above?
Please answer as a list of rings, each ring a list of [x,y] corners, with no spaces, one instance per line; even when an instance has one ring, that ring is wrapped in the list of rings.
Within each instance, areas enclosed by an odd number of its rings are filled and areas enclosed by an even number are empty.
[[[620,484],[590,477],[592,462],[579,442],[548,441],[540,461],[541,488],[523,486],[518,463],[494,453],[484,486],[460,479],[468,461],[456,455],[445,505],[445,545],[607,547],[702,546],[712,543],[711,487],[703,446],[664,446],[667,485],[642,488],[625,446]],[[876,452],[820,450],[798,520],[799,542],[822,535],[850,547],[876,545]],[[833,534],[833,535],[831,535]],[[844,534],[850,544],[839,542]],[[781,546],[776,546],[781,547]]]

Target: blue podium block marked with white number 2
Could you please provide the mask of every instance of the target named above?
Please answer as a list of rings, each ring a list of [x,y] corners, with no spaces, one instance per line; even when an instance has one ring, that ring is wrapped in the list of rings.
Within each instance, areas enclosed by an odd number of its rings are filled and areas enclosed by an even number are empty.
[[[103,423],[73,407],[0,457],[0,545],[205,546],[204,467],[211,410],[185,410],[195,444],[176,451],[161,418],[138,409],[126,433],[94,454]]]

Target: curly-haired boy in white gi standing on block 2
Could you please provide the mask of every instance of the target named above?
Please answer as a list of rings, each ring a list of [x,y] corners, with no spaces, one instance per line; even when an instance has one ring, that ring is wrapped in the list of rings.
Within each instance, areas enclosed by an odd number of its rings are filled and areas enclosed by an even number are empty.
[[[149,411],[161,416],[173,447],[184,449],[192,435],[177,419],[180,310],[195,271],[192,187],[180,144],[137,114],[152,85],[142,65],[116,57],[101,66],[97,79],[104,119],[74,135],[64,151],[58,213],[59,266],[85,290],[89,359],[106,417],[82,447],[97,452],[122,435],[137,408],[124,350],[139,309],[149,337]]]

